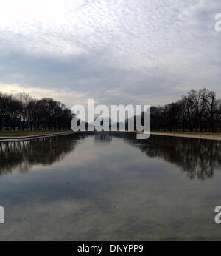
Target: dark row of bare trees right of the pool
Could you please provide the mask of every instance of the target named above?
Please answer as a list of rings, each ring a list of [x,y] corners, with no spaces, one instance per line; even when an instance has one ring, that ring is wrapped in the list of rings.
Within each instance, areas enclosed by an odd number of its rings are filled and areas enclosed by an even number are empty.
[[[221,101],[206,88],[190,90],[176,102],[151,107],[150,116],[155,131],[217,132],[221,128]]]

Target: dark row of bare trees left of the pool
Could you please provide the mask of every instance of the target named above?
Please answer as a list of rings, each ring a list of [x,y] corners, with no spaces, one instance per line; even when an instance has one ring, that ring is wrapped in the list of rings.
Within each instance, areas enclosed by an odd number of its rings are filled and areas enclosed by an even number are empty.
[[[71,129],[72,118],[71,110],[52,98],[38,100],[26,93],[0,92],[0,130]]]

